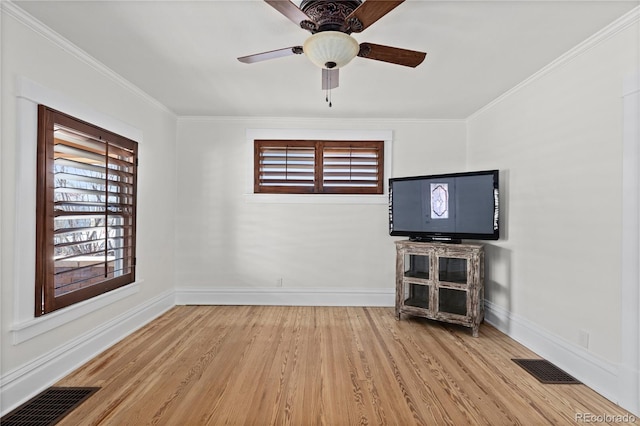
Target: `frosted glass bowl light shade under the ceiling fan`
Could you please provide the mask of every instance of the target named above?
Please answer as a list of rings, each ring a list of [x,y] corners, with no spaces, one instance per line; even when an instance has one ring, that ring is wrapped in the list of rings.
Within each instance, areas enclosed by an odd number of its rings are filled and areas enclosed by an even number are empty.
[[[333,68],[347,65],[358,55],[360,45],[348,34],[339,31],[323,31],[310,36],[302,45],[304,54],[320,68],[332,68],[327,63],[335,63]]]

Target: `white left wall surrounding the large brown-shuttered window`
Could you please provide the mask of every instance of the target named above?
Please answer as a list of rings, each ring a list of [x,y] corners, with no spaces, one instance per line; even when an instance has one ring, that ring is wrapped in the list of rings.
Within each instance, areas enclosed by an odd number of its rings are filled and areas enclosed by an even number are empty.
[[[173,305],[176,118],[14,6],[3,2],[1,19],[0,410],[6,412]],[[138,134],[141,165],[135,291],[95,311],[34,319],[33,299],[24,294],[34,286],[31,133],[38,98]]]

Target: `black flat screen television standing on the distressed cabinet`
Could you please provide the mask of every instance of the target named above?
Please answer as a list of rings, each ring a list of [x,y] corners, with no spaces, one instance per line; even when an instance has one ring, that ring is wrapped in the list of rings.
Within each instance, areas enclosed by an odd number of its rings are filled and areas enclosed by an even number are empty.
[[[498,170],[389,179],[389,233],[416,241],[500,237]]]

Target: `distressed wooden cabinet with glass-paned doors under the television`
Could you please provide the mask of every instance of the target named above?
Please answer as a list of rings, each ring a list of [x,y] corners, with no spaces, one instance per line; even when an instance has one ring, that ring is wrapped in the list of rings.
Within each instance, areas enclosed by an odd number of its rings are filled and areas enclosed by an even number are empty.
[[[396,241],[396,318],[471,327],[484,319],[484,246]]]

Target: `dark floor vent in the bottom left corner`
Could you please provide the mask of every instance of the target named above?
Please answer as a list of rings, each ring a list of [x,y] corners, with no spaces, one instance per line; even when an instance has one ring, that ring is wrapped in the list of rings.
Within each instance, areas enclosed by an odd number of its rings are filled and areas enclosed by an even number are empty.
[[[2,426],[50,426],[100,388],[52,387],[0,419]]]

